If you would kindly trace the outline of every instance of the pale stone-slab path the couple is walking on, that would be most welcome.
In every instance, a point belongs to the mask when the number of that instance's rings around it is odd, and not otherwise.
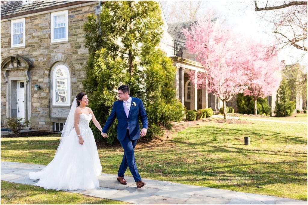
[[[29,172],[37,172],[44,167],[1,161],[1,180],[32,185],[38,180],[31,180]],[[116,175],[102,173],[99,189],[71,192],[134,204],[307,204],[307,201],[301,200],[150,179],[142,179],[147,184],[137,189],[132,177],[126,176],[125,179],[128,184],[122,185],[116,180]]]

